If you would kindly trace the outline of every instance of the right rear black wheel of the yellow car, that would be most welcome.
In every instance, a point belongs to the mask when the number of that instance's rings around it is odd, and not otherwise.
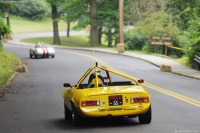
[[[149,107],[149,110],[145,114],[139,115],[138,118],[141,124],[151,123],[151,106]]]

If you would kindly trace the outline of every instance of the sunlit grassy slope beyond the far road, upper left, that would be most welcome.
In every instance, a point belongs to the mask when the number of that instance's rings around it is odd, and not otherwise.
[[[46,18],[42,21],[28,20],[21,17],[11,16],[10,25],[12,33],[28,33],[28,32],[46,32],[53,30],[53,24],[51,18]],[[74,26],[71,23],[71,28]],[[67,24],[64,21],[59,21],[59,30],[63,31],[67,29]]]

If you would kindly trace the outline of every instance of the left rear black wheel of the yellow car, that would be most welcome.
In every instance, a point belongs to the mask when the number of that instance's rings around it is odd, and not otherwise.
[[[74,105],[72,105],[72,124],[78,126],[81,123],[81,116],[78,114]]]

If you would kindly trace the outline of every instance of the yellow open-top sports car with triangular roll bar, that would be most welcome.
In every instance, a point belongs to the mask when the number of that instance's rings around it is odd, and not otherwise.
[[[62,92],[65,119],[73,125],[84,117],[137,117],[141,124],[151,122],[148,91],[136,80],[103,66],[93,66],[74,86],[64,83]]]

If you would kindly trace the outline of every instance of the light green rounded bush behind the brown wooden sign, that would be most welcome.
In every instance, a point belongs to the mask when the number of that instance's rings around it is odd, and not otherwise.
[[[164,11],[150,14],[144,21],[139,22],[138,30],[145,31],[149,38],[150,36],[170,36],[172,37],[174,44],[178,41],[177,36],[180,34],[180,30],[173,23],[171,15],[166,14]],[[143,50],[146,52],[154,52],[154,46],[148,46],[148,44],[150,45],[150,41],[145,42]],[[157,49],[158,52],[160,51],[159,53],[163,53],[164,51],[163,46],[159,46]],[[168,51],[168,54],[177,54],[172,51]]]

